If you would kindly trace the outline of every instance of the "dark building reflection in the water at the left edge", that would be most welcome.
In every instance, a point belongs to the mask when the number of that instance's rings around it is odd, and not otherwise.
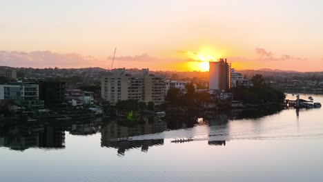
[[[63,128],[50,125],[20,125],[2,128],[0,146],[12,150],[65,148]]]

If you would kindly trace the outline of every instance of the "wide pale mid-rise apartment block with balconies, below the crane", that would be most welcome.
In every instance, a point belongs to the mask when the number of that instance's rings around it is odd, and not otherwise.
[[[101,97],[111,103],[134,99],[158,105],[164,103],[165,79],[148,69],[139,74],[129,74],[125,68],[115,69],[101,78]]]

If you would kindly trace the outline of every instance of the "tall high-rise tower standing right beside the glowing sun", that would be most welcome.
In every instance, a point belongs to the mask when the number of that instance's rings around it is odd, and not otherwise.
[[[231,63],[226,59],[209,63],[209,89],[228,91],[231,88]]]

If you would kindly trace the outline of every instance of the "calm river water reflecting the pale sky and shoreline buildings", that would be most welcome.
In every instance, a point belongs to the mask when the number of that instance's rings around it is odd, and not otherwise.
[[[322,181],[322,116],[323,109],[260,119],[218,114],[193,128],[177,123],[178,130],[159,119],[132,128],[7,125],[0,131],[0,181]],[[110,141],[123,136],[134,141]],[[170,142],[188,137],[194,141]]]

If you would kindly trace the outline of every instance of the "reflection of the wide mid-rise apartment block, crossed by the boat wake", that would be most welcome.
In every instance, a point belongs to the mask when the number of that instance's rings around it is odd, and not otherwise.
[[[124,155],[127,150],[141,148],[142,152],[148,152],[148,148],[155,145],[164,145],[164,139],[148,139],[135,141],[111,141],[128,136],[139,136],[144,134],[155,134],[164,132],[167,129],[165,121],[159,117],[153,119],[144,118],[144,124],[134,126],[124,126],[117,124],[116,121],[108,123],[101,129],[101,146],[116,148],[119,155]]]

